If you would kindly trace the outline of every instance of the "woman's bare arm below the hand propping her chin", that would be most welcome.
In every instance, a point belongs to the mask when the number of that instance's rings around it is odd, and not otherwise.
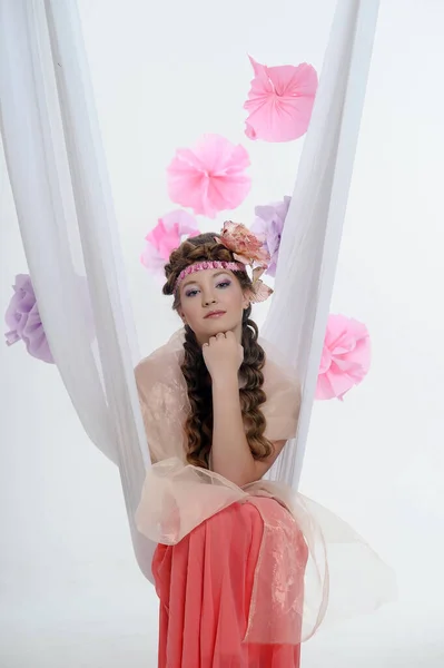
[[[238,487],[260,480],[286,441],[273,443],[273,453],[266,460],[253,458],[245,435],[237,371],[229,365],[213,379],[213,471]]]

